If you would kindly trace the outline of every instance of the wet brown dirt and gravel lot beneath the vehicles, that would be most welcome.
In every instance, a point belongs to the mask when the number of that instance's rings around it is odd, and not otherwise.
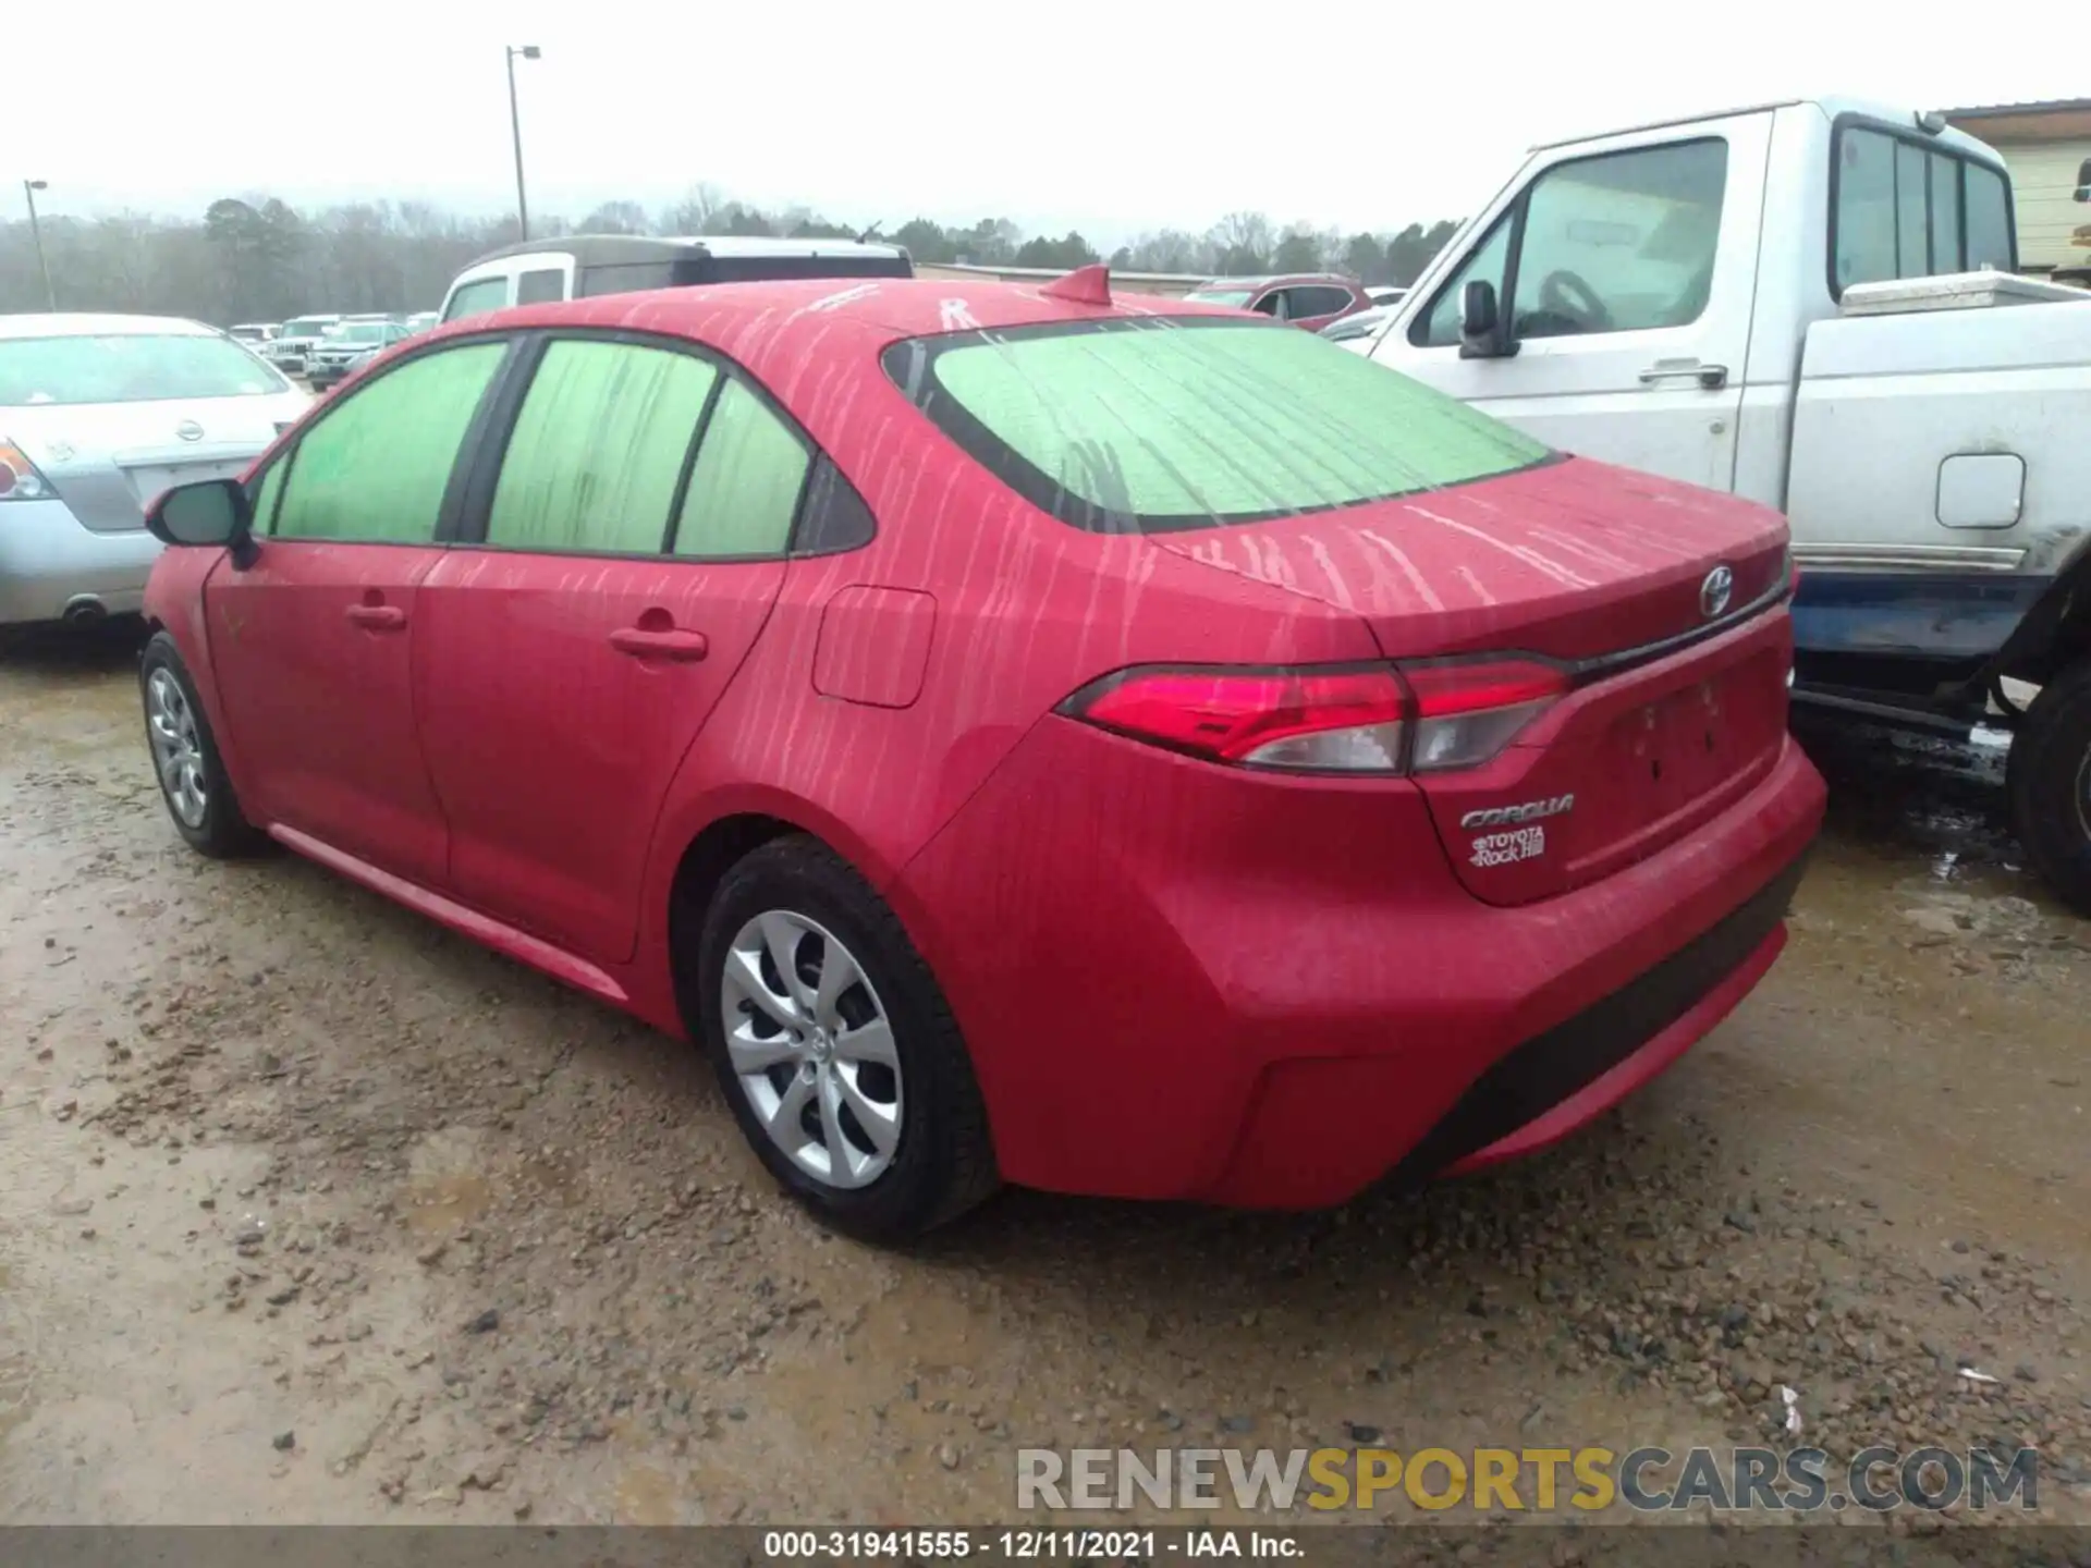
[[[1014,1516],[1031,1445],[2037,1443],[2091,1482],[2091,926],[1980,761],[1815,742],[1769,983],[1522,1169],[1313,1217],[782,1202],[690,1052],[167,826],[132,652],[0,663],[0,1518]],[[1959,1376],[1972,1365],[1997,1378]]]

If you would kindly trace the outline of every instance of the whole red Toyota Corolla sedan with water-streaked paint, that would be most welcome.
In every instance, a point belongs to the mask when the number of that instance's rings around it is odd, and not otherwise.
[[[1549,1144],[1823,807],[1777,514],[1096,270],[458,322],[151,518],[180,834],[698,1041],[868,1236]]]

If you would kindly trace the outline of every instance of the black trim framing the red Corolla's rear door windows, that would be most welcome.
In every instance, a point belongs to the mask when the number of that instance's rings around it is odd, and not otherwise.
[[[514,335],[521,349],[512,355],[512,374],[502,385],[502,395],[496,399],[498,406],[489,410],[489,431],[479,447],[473,472],[466,479],[464,493],[458,506],[458,529],[450,539],[452,544],[466,546],[470,550],[493,550],[500,554],[519,556],[562,556],[575,560],[652,560],[686,567],[705,564],[736,564],[736,562],[759,562],[759,560],[797,560],[811,556],[834,556],[849,554],[851,550],[864,550],[872,539],[878,537],[878,514],[866,504],[866,512],[872,516],[870,537],[830,550],[801,550],[799,535],[805,529],[807,495],[813,487],[813,472],[820,462],[828,458],[826,447],[813,439],[813,433],[805,429],[790,410],[776,399],[776,395],[755,376],[746,366],[734,360],[730,353],[721,353],[709,343],[698,343],[688,337],[673,337],[665,332],[646,332],[629,326],[539,326],[527,328]],[[667,521],[663,523],[661,546],[657,550],[542,550],[537,546],[521,544],[493,544],[487,539],[487,518],[493,512],[493,491],[500,485],[502,462],[508,458],[508,443],[514,439],[516,420],[523,414],[523,399],[529,395],[531,383],[537,378],[537,366],[544,362],[546,349],[552,343],[623,343],[636,349],[661,349],[667,353],[684,353],[692,360],[705,360],[717,370],[717,378],[711,383],[711,391],[705,395],[705,408],[698,414],[696,429],[690,433],[690,445],[682,454],[682,470],[677,472],[675,493],[669,504]],[[769,410],[772,416],[792,435],[792,439],[805,447],[807,462],[805,475],[799,479],[799,493],[792,500],[790,529],[784,535],[784,548],[776,552],[761,554],[734,554],[734,556],[711,556],[711,554],[675,554],[671,550],[675,529],[682,521],[682,504],[690,493],[690,477],[696,472],[696,458],[703,447],[705,435],[711,429],[711,414],[719,406],[719,395],[728,381],[738,381],[755,399]],[[836,479],[851,485],[849,475],[843,472],[841,464],[834,464]],[[855,489],[855,485],[851,485]],[[864,500],[864,493],[857,491]],[[445,498],[447,502],[447,498]]]

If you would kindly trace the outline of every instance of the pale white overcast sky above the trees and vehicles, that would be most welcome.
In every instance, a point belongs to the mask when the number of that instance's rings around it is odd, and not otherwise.
[[[17,4],[0,211],[199,213],[514,201],[504,44],[533,211],[648,207],[705,180],[887,228],[1008,215],[1108,245],[1250,207],[1280,224],[1462,217],[1535,140],[1792,94],[1907,107],[2085,90],[2066,10],[1955,27],[1909,10],[1671,0],[395,0],[115,13]],[[2051,46],[2041,44],[2049,33]],[[2076,40],[2076,46],[2070,40]]]

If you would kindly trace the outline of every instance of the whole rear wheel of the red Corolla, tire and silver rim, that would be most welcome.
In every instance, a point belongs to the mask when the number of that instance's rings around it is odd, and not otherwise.
[[[696,951],[705,1050],[757,1156],[836,1229],[901,1242],[997,1183],[987,1110],[935,976],[826,845],[726,874]]]

